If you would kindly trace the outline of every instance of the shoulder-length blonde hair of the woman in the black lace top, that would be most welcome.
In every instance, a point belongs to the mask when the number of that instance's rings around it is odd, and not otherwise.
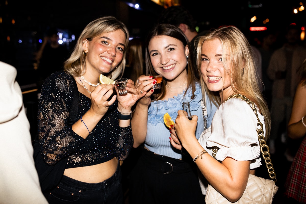
[[[91,41],[102,33],[114,32],[119,29],[125,33],[125,47],[127,47],[129,43],[129,31],[121,21],[112,16],[100,17],[91,21],[81,32],[71,56],[65,61],[64,70],[72,76],[83,75],[86,71],[85,57],[83,55],[83,40],[86,38],[88,41]],[[122,61],[116,69],[106,75],[107,77],[115,80],[122,76],[125,69],[125,52],[126,49],[123,50]]]

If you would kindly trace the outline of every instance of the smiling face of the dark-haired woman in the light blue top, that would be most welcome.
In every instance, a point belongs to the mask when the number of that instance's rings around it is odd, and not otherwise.
[[[174,80],[181,73],[187,76],[188,46],[173,37],[157,35],[150,40],[148,45],[152,66],[158,74],[162,74],[167,80]]]

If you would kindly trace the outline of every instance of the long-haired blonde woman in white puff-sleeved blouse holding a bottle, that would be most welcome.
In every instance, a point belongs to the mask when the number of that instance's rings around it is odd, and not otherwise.
[[[186,113],[179,110],[171,130],[171,144],[176,148],[184,146],[211,186],[236,202],[249,174],[255,174],[261,165],[260,147],[252,108],[240,98],[227,99],[241,94],[256,104],[266,139],[270,131],[269,110],[259,90],[251,46],[238,28],[224,26],[199,37],[197,52],[202,87],[220,106],[211,127],[199,140],[194,132],[201,118],[193,116],[189,121]],[[218,147],[216,159],[212,157],[214,146]]]

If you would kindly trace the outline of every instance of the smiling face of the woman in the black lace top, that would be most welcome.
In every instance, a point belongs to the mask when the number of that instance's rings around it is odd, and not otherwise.
[[[122,30],[102,33],[91,41],[84,39],[83,50],[87,52],[86,69],[105,74],[111,72],[123,59],[126,36]]]

